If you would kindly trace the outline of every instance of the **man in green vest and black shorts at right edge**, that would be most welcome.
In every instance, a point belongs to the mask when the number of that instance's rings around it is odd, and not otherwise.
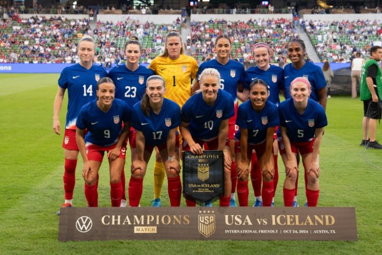
[[[362,65],[360,95],[364,103],[362,128],[364,137],[360,145],[366,148],[382,149],[375,140],[377,119],[381,119],[382,72],[378,61],[382,60],[382,47],[370,48],[370,59]],[[367,138],[370,134],[369,139]]]

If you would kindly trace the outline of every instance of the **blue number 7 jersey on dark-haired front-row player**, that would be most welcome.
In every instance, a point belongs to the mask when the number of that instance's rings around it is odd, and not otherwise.
[[[258,144],[266,140],[268,127],[279,125],[279,109],[270,101],[265,102],[263,110],[256,112],[251,101],[245,101],[237,110],[236,125],[248,129],[248,143]],[[240,140],[240,135],[236,136]]]

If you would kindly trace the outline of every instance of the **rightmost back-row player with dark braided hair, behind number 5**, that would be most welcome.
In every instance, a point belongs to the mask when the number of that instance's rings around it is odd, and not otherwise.
[[[319,103],[324,110],[326,110],[326,81],[323,72],[319,66],[305,61],[304,55],[306,53],[305,43],[300,39],[292,39],[288,43],[288,58],[292,63],[287,64],[284,67],[285,76],[285,91],[290,90],[291,82],[297,77],[304,77],[308,79],[311,85],[310,98]],[[285,93],[285,98],[290,98],[289,93]],[[297,152],[297,162],[299,162],[299,156]],[[304,176],[305,186],[307,184],[307,176]],[[296,181],[296,194],[293,201],[293,206],[298,207],[297,203],[297,183]]]

